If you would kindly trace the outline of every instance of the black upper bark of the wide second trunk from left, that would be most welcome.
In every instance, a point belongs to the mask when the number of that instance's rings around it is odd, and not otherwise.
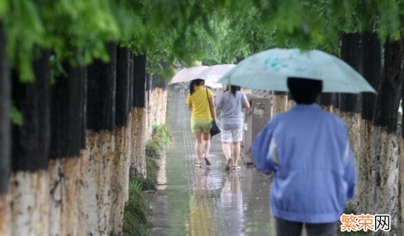
[[[50,147],[50,53],[42,52],[34,62],[36,81],[21,83],[14,74],[12,97],[23,117],[22,126],[12,128],[12,167],[45,170]]]

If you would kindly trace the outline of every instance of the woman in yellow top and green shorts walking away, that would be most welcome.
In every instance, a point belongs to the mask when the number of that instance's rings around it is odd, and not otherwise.
[[[192,80],[190,93],[187,97],[188,108],[192,112],[191,130],[195,136],[195,154],[198,158],[196,168],[202,167],[202,148],[206,165],[210,166],[210,128],[212,127],[212,119],[216,120],[213,92],[203,87],[204,84],[203,79]]]

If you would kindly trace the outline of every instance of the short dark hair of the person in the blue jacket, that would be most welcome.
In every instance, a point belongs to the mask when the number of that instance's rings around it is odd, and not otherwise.
[[[323,90],[323,81],[288,77],[287,88],[289,88],[290,95],[296,104],[314,104]]]

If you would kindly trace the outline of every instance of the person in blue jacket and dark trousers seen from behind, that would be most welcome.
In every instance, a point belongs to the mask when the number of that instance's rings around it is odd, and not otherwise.
[[[252,144],[256,168],[274,172],[276,235],[336,235],[356,173],[344,122],[315,104],[323,82],[288,78],[296,105],[273,117]]]

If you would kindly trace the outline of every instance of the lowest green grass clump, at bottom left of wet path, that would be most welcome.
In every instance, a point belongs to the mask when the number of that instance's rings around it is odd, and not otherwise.
[[[123,235],[148,235],[152,224],[147,217],[147,204],[141,193],[142,182],[130,180],[129,199],[123,213]]]

